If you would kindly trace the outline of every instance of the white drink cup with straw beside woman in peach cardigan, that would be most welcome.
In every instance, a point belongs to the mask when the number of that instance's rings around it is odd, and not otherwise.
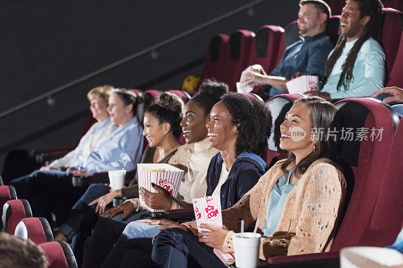
[[[235,251],[235,264],[238,268],[257,267],[261,234],[236,233],[232,235]]]

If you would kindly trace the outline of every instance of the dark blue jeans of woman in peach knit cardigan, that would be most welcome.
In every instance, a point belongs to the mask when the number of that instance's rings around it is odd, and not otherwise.
[[[158,267],[227,267],[212,247],[179,228],[165,229],[157,235],[151,258]]]

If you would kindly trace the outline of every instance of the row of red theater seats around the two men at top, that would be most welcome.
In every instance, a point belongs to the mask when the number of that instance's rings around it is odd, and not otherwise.
[[[403,67],[399,63],[403,60],[403,14],[391,8],[384,8],[383,11],[383,30],[379,39],[386,53],[389,74],[386,84],[401,87],[403,78],[399,74]],[[339,37],[339,23],[340,16],[332,16],[326,29],[334,44]],[[249,30],[236,30],[231,36],[217,34],[210,40],[200,81],[214,77],[228,83],[230,90],[236,91],[235,83],[239,81],[242,70],[247,66],[260,64],[270,73],[280,62],[285,48],[297,40],[296,21],[285,29],[264,25],[256,34]],[[259,87],[255,87],[252,93],[262,96]]]

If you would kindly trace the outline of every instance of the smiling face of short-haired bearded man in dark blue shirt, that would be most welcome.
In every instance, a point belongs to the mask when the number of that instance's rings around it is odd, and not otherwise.
[[[320,32],[319,29],[321,24],[326,21],[326,17],[326,15],[323,17],[323,14],[319,14],[313,4],[303,5],[298,12],[299,34],[301,36],[315,36]]]

